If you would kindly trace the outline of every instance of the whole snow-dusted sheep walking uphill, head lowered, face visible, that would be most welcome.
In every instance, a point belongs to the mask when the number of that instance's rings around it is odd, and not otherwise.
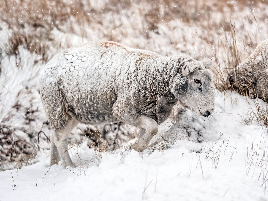
[[[40,74],[40,95],[51,128],[51,165],[74,166],[68,133],[77,125],[127,122],[139,128],[131,149],[143,151],[178,100],[198,115],[214,110],[214,58],[161,56],[116,42],[89,42],[54,56]]]

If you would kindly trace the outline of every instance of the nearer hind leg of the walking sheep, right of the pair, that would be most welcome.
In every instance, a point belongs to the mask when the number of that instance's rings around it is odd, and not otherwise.
[[[68,135],[70,131],[72,131],[72,129],[76,125],[77,125],[77,122],[71,120],[67,123],[64,129],[55,131],[54,133],[54,142],[58,149],[59,155],[61,156],[61,160],[63,161],[61,165],[63,165],[64,167],[67,167],[67,166],[75,167],[75,165],[73,164],[69,156],[69,153],[68,153],[69,147],[67,143],[68,143]]]

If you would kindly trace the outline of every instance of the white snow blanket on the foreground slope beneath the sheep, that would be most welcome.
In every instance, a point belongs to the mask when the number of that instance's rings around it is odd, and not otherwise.
[[[267,128],[243,120],[254,100],[216,94],[210,118],[182,115],[201,143],[181,139],[165,151],[121,148],[96,158],[84,142],[69,150],[83,165],[69,169],[50,167],[49,151],[39,152],[39,162],[0,172],[0,200],[268,200]]]

